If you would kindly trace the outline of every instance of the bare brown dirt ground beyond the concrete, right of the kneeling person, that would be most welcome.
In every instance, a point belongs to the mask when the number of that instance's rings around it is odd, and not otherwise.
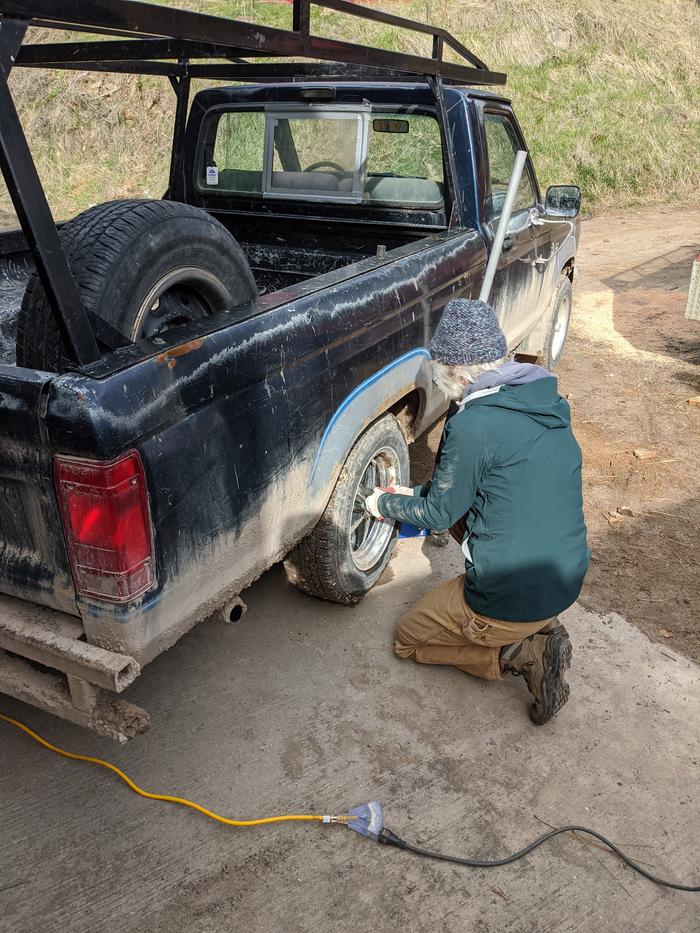
[[[581,602],[700,660],[700,322],[684,318],[696,210],[583,223],[559,369],[583,449],[593,552]],[[441,425],[414,445],[427,478]]]

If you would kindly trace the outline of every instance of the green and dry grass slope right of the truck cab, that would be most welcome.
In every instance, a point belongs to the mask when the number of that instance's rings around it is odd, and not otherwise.
[[[394,4],[444,25],[496,69],[543,187],[586,205],[694,199],[700,186],[700,9],[694,0],[423,0]],[[340,17],[324,21],[344,31]],[[396,43],[366,26],[363,39]],[[377,38],[379,42],[377,42]],[[407,47],[425,53],[418,38]]]

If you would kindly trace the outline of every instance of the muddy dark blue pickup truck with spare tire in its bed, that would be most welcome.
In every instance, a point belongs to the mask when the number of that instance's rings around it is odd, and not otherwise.
[[[409,482],[446,409],[426,347],[527,148],[458,79],[219,86],[181,120],[162,200],[59,225],[92,359],[31,217],[0,237],[0,692],[120,739],[147,717],[115,695],[274,563],[341,603],[379,579],[398,529],[364,494]],[[509,348],[549,367],[578,200],[528,158],[494,283]]]

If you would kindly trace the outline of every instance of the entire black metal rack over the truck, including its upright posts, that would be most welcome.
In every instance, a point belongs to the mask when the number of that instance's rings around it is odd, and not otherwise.
[[[421,57],[312,35],[312,4],[429,36],[432,53]],[[29,26],[86,33],[88,37],[84,42],[25,45]],[[109,38],[95,40],[95,34]],[[445,61],[446,48],[461,59],[459,64]],[[101,346],[114,348],[123,338],[83,304],[12,98],[8,77],[15,66],[169,78],[177,95],[168,189],[174,200],[183,190],[183,140],[193,78],[391,82],[420,77],[433,91],[440,112],[447,192],[453,192],[453,154],[448,143],[443,82],[506,82],[504,74],[490,71],[444,29],[347,0],[293,0],[291,30],[140,0],[0,0],[0,169],[56,323],[78,365],[99,359]]]

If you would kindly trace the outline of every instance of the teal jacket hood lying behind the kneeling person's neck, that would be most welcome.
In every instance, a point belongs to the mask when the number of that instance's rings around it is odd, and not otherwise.
[[[508,364],[510,365],[510,364]],[[530,364],[517,364],[529,366]],[[505,369],[506,367],[501,367]],[[480,377],[477,382],[469,386],[472,391],[469,392],[460,410],[471,407],[472,405],[489,405],[496,408],[509,408],[512,411],[519,411],[545,428],[565,428],[571,424],[571,411],[569,403],[563,399],[557,392],[557,380],[546,369],[541,366],[532,366],[531,369],[539,370],[532,381],[520,379],[515,383],[500,382],[497,385],[479,387]],[[484,373],[493,380],[493,376],[498,370],[492,373]],[[523,374],[521,373],[521,376]]]

